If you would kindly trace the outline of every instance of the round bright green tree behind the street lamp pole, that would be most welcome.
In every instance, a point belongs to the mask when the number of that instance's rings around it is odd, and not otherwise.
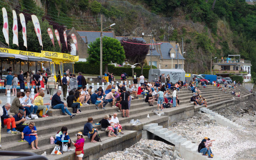
[[[90,63],[100,63],[100,38],[89,44],[88,61]],[[125,60],[124,48],[119,40],[106,37],[102,38],[102,63],[105,65],[105,71],[108,72],[108,64],[121,64]]]

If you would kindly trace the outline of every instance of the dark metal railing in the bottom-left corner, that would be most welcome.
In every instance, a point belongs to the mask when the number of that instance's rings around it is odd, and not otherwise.
[[[20,158],[14,158],[12,160],[48,160],[48,158],[37,155],[32,152],[21,152],[21,151],[0,151],[0,156],[17,156]]]

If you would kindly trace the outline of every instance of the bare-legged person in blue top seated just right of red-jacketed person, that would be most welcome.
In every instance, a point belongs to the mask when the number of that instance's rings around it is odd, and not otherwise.
[[[91,142],[97,142],[94,138],[97,135],[98,129],[92,126],[93,118],[89,117],[87,123],[84,125],[84,136],[91,138]]]

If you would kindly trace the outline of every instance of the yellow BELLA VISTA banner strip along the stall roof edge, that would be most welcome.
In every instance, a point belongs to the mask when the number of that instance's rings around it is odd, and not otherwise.
[[[50,51],[42,51],[41,53],[38,52],[29,52],[24,50],[13,50],[10,48],[0,48],[0,52],[3,53],[10,53],[10,54],[20,54],[24,56],[36,56],[36,57],[45,57],[50,58],[53,60],[63,61],[63,62],[77,62],[79,56],[72,56],[66,53],[60,52],[50,52]]]

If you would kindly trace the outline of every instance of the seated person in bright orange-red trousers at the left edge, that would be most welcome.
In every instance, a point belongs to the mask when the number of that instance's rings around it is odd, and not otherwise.
[[[12,115],[8,115],[8,110],[10,108],[11,108],[10,103],[4,104],[4,106],[2,106],[3,115],[1,116],[1,126],[2,128],[4,128],[4,125],[7,126],[8,134],[12,134],[12,131],[17,132],[15,129],[16,128],[15,119],[12,117]],[[11,124],[12,124],[12,131],[11,131]]]

